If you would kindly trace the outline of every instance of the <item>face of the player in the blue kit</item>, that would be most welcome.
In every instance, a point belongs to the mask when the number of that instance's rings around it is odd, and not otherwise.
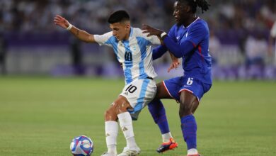
[[[176,23],[183,24],[188,16],[188,7],[187,5],[176,1],[173,6],[173,16],[176,20]]]

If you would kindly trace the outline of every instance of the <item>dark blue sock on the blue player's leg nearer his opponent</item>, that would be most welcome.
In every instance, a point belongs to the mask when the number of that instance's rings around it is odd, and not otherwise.
[[[151,101],[148,104],[149,112],[151,113],[154,122],[159,126],[161,134],[170,132],[165,108],[160,100]]]

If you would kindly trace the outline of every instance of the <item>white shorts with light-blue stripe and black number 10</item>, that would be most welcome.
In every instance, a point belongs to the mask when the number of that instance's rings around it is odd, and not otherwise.
[[[129,109],[132,120],[137,120],[142,108],[149,104],[156,95],[156,82],[152,79],[137,79],[125,85],[120,96],[124,96],[132,109]]]

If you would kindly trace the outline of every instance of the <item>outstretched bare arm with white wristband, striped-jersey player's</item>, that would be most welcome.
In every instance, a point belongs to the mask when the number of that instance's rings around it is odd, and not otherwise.
[[[55,16],[54,24],[69,30],[73,35],[76,36],[76,38],[79,38],[79,40],[83,40],[86,43],[96,42],[94,35],[87,33],[85,30],[80,30],[79,28],[76,28],[75,26],[71,25],[69,21],[67,21],[67,19],[65,19],[62,16],[59,16],[59,15]]]

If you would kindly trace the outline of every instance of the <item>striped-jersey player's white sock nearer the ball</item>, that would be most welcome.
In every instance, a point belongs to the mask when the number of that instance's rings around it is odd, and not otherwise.
[[[105,121],[105,140],[108,153],[117,155],[118,123],[116,121]]]

